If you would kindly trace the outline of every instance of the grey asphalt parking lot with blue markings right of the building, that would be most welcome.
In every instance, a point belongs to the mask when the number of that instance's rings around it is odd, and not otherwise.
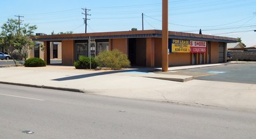
[[[226,64],[206,68],[182,69],[164,74],[189,75],[196,80],[256,84],[256,63]]]

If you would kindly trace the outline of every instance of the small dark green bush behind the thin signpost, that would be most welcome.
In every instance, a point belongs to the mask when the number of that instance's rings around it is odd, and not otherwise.
[[[76,69],[90,69],[90,58],[85,56],[79,56],[79,61],[75,61],[74,66]],[[98,64],[94,61],[94,57],[91,57],[91,68],[95,69]]]

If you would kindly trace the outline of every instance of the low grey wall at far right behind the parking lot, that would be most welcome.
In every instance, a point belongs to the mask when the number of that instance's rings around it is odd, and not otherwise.
[[[231,54],[231,61],[256,61],[256,51],[227,51]]]

